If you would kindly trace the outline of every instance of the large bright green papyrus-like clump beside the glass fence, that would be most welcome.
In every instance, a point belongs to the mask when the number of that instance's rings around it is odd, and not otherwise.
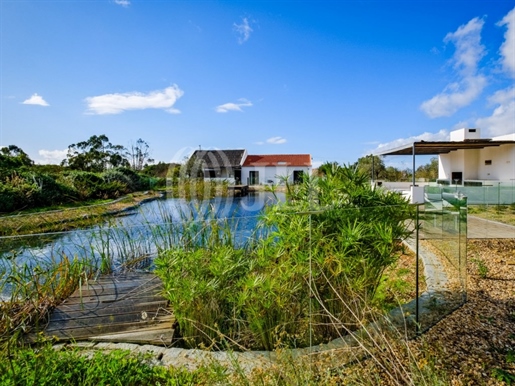
[[[186,222],[186,242],[156,259],[188,346],[303,347],[365,318],[412,209],[347,167],[287,184],[287,197],[265,209],[263,237],[243,247],[207,218]]]

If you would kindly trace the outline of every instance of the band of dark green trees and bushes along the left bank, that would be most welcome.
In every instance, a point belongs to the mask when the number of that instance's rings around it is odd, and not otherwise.
[[[71,144],[60,165],[37,165],[16,145],[0,148],[0,213],[164,186],[170,165],[153,161],[144,140],[125,148],[106,135]]]

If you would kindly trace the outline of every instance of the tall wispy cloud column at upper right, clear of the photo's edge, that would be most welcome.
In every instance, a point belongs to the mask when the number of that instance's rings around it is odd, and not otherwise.
[[[485,56],[485,47],[481,44],[483,25],[484,20],[476,17],[445,36],[444,42],[456,47],[450,63],[458,81],[421,104],[421,110],[429,117],[454,114],[474,101],[485,88],[486,77],[478,73],[478,63]]]

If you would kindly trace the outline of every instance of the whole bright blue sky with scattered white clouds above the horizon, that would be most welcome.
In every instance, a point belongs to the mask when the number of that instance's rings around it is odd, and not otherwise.
[[[201,146],[316,165],[515,133],[512,0],[0,6],[0,146],[39,163],[95,134],[165,162]]]

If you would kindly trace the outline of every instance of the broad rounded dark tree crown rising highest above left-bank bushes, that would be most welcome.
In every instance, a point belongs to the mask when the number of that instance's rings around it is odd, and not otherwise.
[[[68,154],[61,165],[68,166],[70,169],[89,172],[129,167],[125,152],[126,149],[123,146],[113,145],[104,134],[93,135],[87,141],[68,146]]]

